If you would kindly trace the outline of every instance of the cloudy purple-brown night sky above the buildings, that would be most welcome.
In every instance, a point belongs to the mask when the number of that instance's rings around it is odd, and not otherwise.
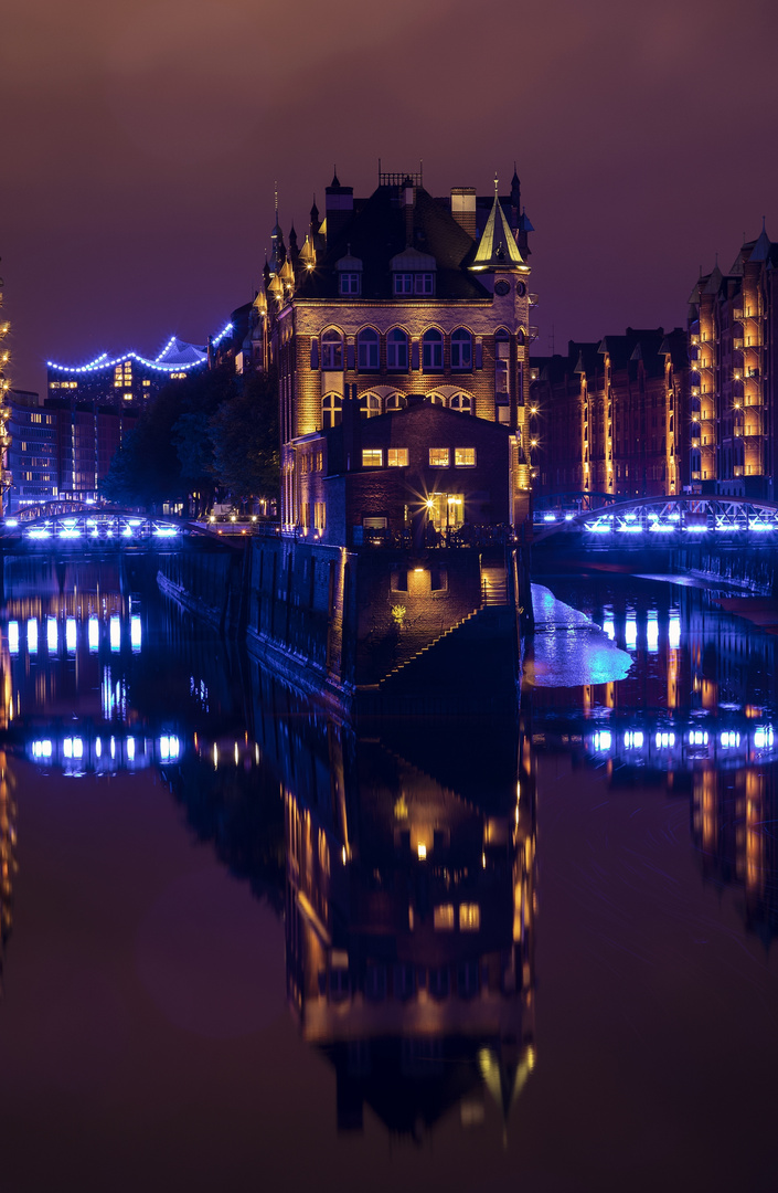
[[[12,382],[204,342],[332,166],[435,194],[518,166],[537,352],[683,323],[716,251],[778,239],[774,0],[5,0]]]

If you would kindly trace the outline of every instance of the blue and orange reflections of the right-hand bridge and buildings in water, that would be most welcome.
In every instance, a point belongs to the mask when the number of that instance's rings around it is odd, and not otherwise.
[[[575,599],[565,582],[555,589]],[[661,781],[687,799],[703,878],[742,894],[747,929],[768,945],[778,933],[778,643],[722,613],[716,594],[656,585],[653,607],[640,608],[634,595],[604,582],[581,601],[633,668],[616,685],[525,692],[535,749],[604,767],[611,789]]]

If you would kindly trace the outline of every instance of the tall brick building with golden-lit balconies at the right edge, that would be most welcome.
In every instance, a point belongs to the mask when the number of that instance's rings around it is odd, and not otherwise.
[[[690,296],[691,476],[708,493],[776,500],[778,245],[763,228]]]

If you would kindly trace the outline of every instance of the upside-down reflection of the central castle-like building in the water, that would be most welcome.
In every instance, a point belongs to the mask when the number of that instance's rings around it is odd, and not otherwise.
[[[330,724],[318,746],[312,787],[284,785],[287,994],[338,1126],[366,1102],[400,1135],[455,1105],[475,1125],[485,1089],[506,1125],[535,1063],[529,749],[486,808],[380,740]]]

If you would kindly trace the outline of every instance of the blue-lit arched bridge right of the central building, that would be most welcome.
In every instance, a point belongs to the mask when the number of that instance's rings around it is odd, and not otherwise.
[[[641,497],[583,513],[539,511],[535,543],[577,536],[585,546],[687,546],[692,542],[776,546],[778,503],[742,497]]]

